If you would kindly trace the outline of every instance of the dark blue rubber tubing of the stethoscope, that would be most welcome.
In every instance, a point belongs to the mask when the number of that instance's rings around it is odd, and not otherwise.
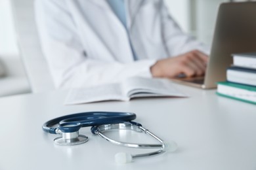
[[[130,122],[135,120],[133,112],[80,112],[60,116],[43,124],[43,131],[56,134],[60,129],[63,133],[78,131],[81,127],[100,126],[103,124],[118,124],[119,122]],[[58,124],[58,127],[53,127]]]

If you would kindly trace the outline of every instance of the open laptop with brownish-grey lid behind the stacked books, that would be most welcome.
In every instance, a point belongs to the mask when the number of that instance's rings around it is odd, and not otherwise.
[[[173,80],[197,88],[216,88],[216,82],[226,80],[231,54],[244,52],[256,52],[256,2],[222,3],[205,76]]]

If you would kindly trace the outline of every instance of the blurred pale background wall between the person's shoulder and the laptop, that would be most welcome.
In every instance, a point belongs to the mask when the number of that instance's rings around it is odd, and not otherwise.
[[[228,0],[165,0],[170,13],[186,33],[211,45],[218,7]]]

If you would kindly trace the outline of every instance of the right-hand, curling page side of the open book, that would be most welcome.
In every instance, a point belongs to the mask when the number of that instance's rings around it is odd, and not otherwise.
[[[127,78],[122,83],[123,92],[129,97],[173,96],[187,97],[179,92],[170,80],[163,78]]]

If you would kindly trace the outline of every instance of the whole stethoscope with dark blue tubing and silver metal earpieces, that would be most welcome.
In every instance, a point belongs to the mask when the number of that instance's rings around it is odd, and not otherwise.
[[[91,126],[91,132],[98,135],[112,144],[119,146],[126,146],[129,148],[159,148],[155,152],[148,152],[145,154],[128,154],[117,153],[115,159],[117,163],[129,163],[137,158],[144,158],[147,156],[155,156],[163,154],[164,152],[175,151],[177,144],[175,142],[165,143],[154,133],[142,127],[135,120],[136,114],[131,112],[81,112],[77,114],[70,114],[49,120],[43,124],[43,131],[52,134],[60,134],[61,137],[54,139],[54,143],[62,146],[72,146],[77,144],[86,143],[88,137],[79,135],[81,127]],[[58,125],[56,127],[56,125]],[[123,143],[110,139],[104,135],[104,132],[112,129],[130,129],[137,132],[144,132],[160,142],[160,144],[136,144],[136,143]]]

